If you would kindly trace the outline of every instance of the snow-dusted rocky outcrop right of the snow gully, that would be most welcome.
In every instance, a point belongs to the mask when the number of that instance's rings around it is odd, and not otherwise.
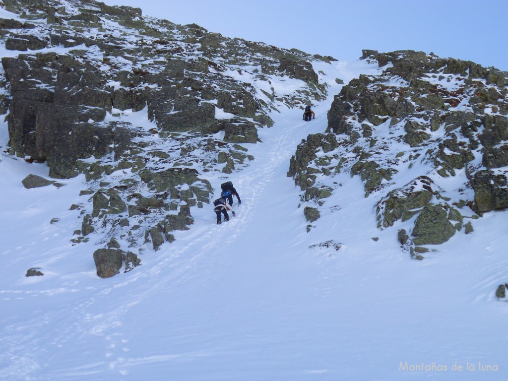
[[[477,213],[508,206],[507,74],[407,50],[365,50],[362,58],[377,63],[378,72],[342,87],[327,134],[313,138],[338,143],[325,151],[303,142],[288,176],[301,200],[313,203],[316,189],[326,187],[329,195],[340,186],[333,180],[338,173],[358,176],[364,196],[376,199],[378,228],[394,227],[402,248],[423,259],[429,250],[423,246],[470,234]],[[436,185],[448,177],[461,185],[454,191]]]

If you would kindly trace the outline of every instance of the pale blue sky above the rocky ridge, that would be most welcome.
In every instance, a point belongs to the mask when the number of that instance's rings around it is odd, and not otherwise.
[[[508,0],[103,0],[177,24],[355,60],[411,49],[508,71]]]

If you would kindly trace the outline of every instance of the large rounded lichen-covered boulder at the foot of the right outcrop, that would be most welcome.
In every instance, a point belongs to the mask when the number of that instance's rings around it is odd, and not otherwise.
[[[439,245],[453,237],[455,231],[446,208],[441,204],[428,204],[416,219],[412,242],[415,245]]]

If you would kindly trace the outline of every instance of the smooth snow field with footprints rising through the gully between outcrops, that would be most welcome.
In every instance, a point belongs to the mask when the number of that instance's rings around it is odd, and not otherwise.
[[[48,168],[9,156],[3,123],[0,379],[507,379],[508,303],[494,292],[508,281],[508,214],[486,213],[472,234],[415,261],[393,230],[376,228],[376,200],[364,198],[359,176],[339,174],[326,201],[337,207],[306,232],[290,158],[325,131],[340,90],[333,79],[377,69],[319,65],[333,85],[314,120],[280,108],[259,130],[263,143],[245,145],[255,156],[248,167],[202,174],[217,197],[233,181],[237,217],[217,226],[211,205],[192,208],[189,231],[158,251],[146,245],[142,266],[109,279],[96,274],[97,237],[70,241],[84,176],[25,189],[26,175],[47,177]],[[330,240],[340,249],[313,246]],[[44,276],[25,277],[31,267]]]

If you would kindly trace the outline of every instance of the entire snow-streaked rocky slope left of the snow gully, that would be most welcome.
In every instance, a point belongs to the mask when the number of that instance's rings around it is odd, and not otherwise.
[[[94,0],[3,6],[30,20],[0,19],[0,43],[10,50],[0,73],[10,153],[46,163],[51,178],[84,175],[87,189],[71,207],[81,219],[71,242],[93,237],[107,247],[100,250],[113,250],[96,253],[100,276],[116,274],[120,261],[135,267],[125,243],[158,250],[189,229],[193,208],[214,192],[205,174],[228,175],[255,160],[247,144],[261,142],[258,129],[273,124],[272,112],[326,96],[312,62],[331,57]],[[288,78],[302,86],[260,91]],[[23,180],[50,183],[61,185]]]

